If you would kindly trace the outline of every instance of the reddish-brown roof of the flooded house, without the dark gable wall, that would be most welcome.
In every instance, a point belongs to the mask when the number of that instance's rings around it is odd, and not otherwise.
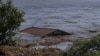
[[[28,34],[32,34],[32,35],[36,35],[36,36],[45,36],[47,34],[51,34],[55,31],[61,31],[61,30],[58,30],[58,29],[49,29],[49,28],[38,28],[38,27],[30,27],[30,28],[27,28],[27,29],[24,29],[24,30],[21,30],[20,32],[23,32],[23,33],[28,33]],[[64,32],[64,31],[61,31],[61,33]],[[66,33],[66,35],[71,35],[70,33],[67,33],[67,32],[64,32]]]

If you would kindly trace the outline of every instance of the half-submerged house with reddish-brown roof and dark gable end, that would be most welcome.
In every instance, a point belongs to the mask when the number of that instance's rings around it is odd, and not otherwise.
[[[64,32],[59,29],[39,28],[39,27],[30,27],[30,28],[21,30],[20,32],[28,33],[28,34],[32,34],[32,35],[40,36],[40,37],[71,35],[71,33]]]

